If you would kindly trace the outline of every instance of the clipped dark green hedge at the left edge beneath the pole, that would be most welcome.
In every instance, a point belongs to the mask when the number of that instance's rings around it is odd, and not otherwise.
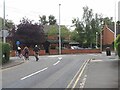
[[[1,51],[2,51],[1,63],[3,64],[3,63],[6,63],[6,62],[9,61],[9,58],[10,58],[10,45],[8,43],[0,43],[0,46],[1,46]]]

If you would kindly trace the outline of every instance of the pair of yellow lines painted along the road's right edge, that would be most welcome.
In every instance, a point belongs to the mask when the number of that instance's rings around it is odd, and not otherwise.
[[[78,72],[75,74],[75,76],[73,77],[73,79],[71,80],[71,82],[68,84],[67,88],[71,88],[71,90],[73,90],[73,89],[76,87],[78,81],[80,80],[80,77],[82,76],[82,74],[83,74],[83,72],[84,72],[87,64],[90,62],[90,60],[91,60],[91,59],[86,60],[86,61],[82,64],[82,66],[80,67],[80,69],[78,70]],[[71,87],[71,86],[72,86],[72,87]],[[67,90],[67,88],[66,88],[66,90]]]

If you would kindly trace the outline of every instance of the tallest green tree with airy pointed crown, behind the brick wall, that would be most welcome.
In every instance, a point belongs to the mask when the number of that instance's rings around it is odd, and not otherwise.
[[[82,46],[93,47],[95,44],[96,32],[100,33],[102,28],[102,16],[93,14],[93,10],[87,6],[83,7],[83,17],[81,21],[79,18],[72,20],[76,27],[75,30],[79,35],[79,41]],[[76,36],[78,37],[78,36]]]

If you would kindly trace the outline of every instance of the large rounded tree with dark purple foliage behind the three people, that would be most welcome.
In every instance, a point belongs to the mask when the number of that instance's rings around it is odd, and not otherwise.
[[[20,41],[22,45],[35,45],[45,42],[45,35],[42,25],[32,24],[31,20],[23,18],[17,26],[17,31],[14,35],[14,41]]]

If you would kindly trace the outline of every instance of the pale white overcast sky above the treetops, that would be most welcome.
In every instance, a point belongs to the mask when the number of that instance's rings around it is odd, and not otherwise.
[[[39,15],[55,16],[60,24],[72,25],[73,18],[82,18],[83,7],[93,9],[93,13],[103,17],[115,17],[115,3],[119,0],[5,0],[5,18],[19,24],[23,17],[38,22]],[[116,4],[117,7],[117,4]],[[0,17],[3,17],[3,0],[0,0]]]

